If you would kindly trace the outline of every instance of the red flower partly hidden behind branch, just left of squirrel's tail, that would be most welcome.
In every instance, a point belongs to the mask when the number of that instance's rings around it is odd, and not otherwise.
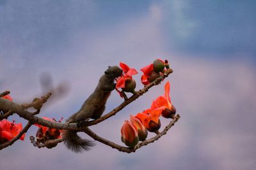
[[[49,120],[49,121],[54,121],[57,122],[54,118],[47,118],[47,117],[42,117],[45,120]],[[61,120],[59,120],[59,122],[61,122]],[[59,129],[53,129],[50,127],[45,127],[43,125],[38,125],[35,124],[38,128],[38,131],[36,132],[36,140],[37,141],[46,141],[48,139],[58,139],[61,138],[61,130]]]

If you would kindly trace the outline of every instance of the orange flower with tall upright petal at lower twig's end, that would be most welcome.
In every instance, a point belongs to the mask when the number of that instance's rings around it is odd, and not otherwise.
[[[169,81],[167,81],[164,85],[164,95],[157,97],[151,104],[152,109],[156,109],[159,107],[164,107],[164,110],[161,113],[163,117],[174,118],[176,109],[171,102]]]

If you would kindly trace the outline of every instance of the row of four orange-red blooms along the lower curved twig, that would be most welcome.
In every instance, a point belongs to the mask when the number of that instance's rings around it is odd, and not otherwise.
[[[161,127],[159,117],[174,118],[175,108],[170,98],[170,82],[164,85],[164,95],[157,97],[151,107],[138,113],[135,117],[131,115],[131,122],[125,120],[121,129],[121,139],[125,145],[134,147],[140,141],[147,138],[147,130],[157,132]]]

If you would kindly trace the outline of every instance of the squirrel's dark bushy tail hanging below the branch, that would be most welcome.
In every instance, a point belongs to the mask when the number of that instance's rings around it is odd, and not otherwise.
[[[72,152],[81,153],[84,150],[90,150],[91,146],[95,146],[93,141],[82,139],[77,135],[77,131],[63,131],[62,138],[64,144]]]

